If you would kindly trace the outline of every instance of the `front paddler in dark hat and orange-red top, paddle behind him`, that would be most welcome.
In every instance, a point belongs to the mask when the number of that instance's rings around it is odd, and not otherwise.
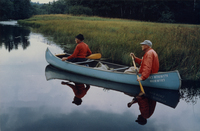
[[[69,57],[63,57],[62,61],[70,61],[70,62],[81,62],[86,61],[86,57],[91,55],[92,52],[89,49],[88,45],[83,42],[84,36],[82,34],[79,34],[75,37],[75,42],[77,44],[74,53],[70,55]]]

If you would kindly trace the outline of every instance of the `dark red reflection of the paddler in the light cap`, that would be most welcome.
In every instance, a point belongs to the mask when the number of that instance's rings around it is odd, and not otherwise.
[[[152,116],[156,107],[156,101],[147,98],[145,95],[139,94],[134,97],[131,102],[128,103],[128,107],[130,108],[132,104],[138,103],[140,115],[135,122],[140,125],[145,125],[147,123],[147,119]]]

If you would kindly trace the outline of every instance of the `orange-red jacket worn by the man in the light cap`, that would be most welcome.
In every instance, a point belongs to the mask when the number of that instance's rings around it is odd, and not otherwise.
[[[135,62],[141,65],[139,73],[142,74],[142,80],[147,79],[151,73],[157,73],[159,70],[158,55],[152,48],[144,54],[143,59],[135,58]]]

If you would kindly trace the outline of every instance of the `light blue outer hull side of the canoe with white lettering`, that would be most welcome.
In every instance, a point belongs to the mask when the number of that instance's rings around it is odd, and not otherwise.
[[[73,73],[108,80],[112,82],[136,86],[139,85],[136,74],[103,71],[91,67],[77,65],[67,61],[62,61],[60,58],[54,56],[48,48],[46,50],[46,61],[57,68]],[[181,78],[177,70],[171,72],[159,72],[156,74],[151,74],[148,79],[146,79],[145,81],[141,81],[141,83],[143,86],[147,87],[178,90],[181,86]]]

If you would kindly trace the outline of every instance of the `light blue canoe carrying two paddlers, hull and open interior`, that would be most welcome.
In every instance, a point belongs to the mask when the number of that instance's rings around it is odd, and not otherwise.
[[[139,87],[136,74],[124,73],[124,71],[129,68],[128,66],[89,59],[85,62],[76,63],[62,61],[61,58],[63,55],[53,55],[48,48],[45,57],[49,64],[65,71],[122,84],[136,85]],[[100,68],[97,67],[99,64],[102,64]],[[159,72],[151,74],[148,79],[141,81],[141,83],[144,87],[178,90],[181,87],[181,77],[177,70]]]

